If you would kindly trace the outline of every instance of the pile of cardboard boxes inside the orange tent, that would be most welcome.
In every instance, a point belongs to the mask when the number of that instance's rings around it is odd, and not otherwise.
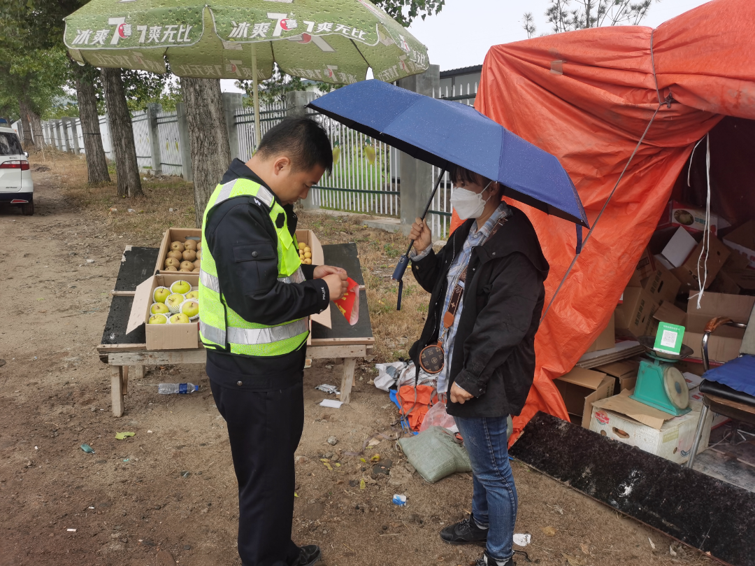
[[[685,462],[700,416],[699,360],[705,326],[714,317],[747,323],[755,306],[755,221],[726,230],[729,224],[711,215],[706,254],[703,253],[704,211],[672,202],[666,216],[624,289],[615,311],[615,332],[617,336],[636,339],[655,335],[660,322],[685,326],[683,343],[692,348],[693,354],[679,367],[685,372],[692,412],[673,417],[631,399],[637,360],[595,367],[594,375],[567,374],[556,380],[556,385],[567,401],[569,413],[577,416],[583,426],[589,422],[590,429],[601,435],[674,462]],[[726,235],[721,235],[721,230]],[[698,302],[701,288],[704,292]],[[737,357],[742,336],[744,329],[732,326],[717,329],[708,340],[710,362],[725,363]],[[608,394],[606,387],[599,386],[604,377],[615,379],[613,391]],[[577,393],[584,393],[581,413]],[[616,394],[611,396],[612,393]],[[704,423],[701,450],[707,446],[711,422],[716,426],[724,420],[720,415],[710,414]]]

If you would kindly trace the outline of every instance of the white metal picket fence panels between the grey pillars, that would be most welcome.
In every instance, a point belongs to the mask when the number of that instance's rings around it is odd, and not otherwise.
[[[476,93],[477,84],[473,86],[467,84],[459,85],[458,88],[442,88],[433,93],[433,96],[473,105]],[[288,109],[282,102],[263,104],[260,108],[262,135],[281,122],[287,111]],[[313,187],[311,191],[313,204],[323,209],[398,217],[401,204],[399,198],[401,153],[333,119],[317,116],[325,131],[328,132],[334,148],[334,165],[331,174],[326,174],[320,184]],[[165,175],[182,175],[183,159],[186,156],[182,153],[177,113],[157,112],[155,122],[159,144],[159,164],[153,163],[155,152],[151,147],[149,112],[137,112],[131,118],[140,168],[159,169]],[[236,110],[233,113],[233,128],[236,128],[239,140],[238,157],[246,161],[257,146],[257,141],[254,139],[253,110],[251,108]],[[84,153],[84,132],[78,118],[71,121],[48,120],[43,122],[43,132],[46,143],[63,151],[76,149],[75,144],[69,147],[69,141],[72,141],[75,135],[78,150]],[[100,133],[105,155],[108,159],[113,159],[107,116],[100,116]],[[433,167],[431,175],[433,186],[439,174],[440,170]],[[448,236],[451,212],[453,212],[450,202],[452,191],[451,180],[446,172],[430,206],[428,216],[433,234],[444,239]]]

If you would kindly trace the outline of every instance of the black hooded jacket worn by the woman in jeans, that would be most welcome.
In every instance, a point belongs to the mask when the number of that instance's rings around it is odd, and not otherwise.
[[[510,208],[506,224],[470,256],[448,391],[456,382],[474,397],[464,404],[449,397],[447,410],[453,416],[518,415],[535,376],[535,332],[549,267],[529,218]],[[416,367],[421,349],[438,340],[448,269],[472,224],[473,219],[461,224],[437,254],[412,262],[414,278],[431,293],[422,336],[409,350]]]

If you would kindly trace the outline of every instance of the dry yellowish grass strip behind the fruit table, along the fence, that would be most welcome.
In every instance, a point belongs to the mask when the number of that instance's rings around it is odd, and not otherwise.
[[[96,187],[87,184],[83,159],[61,152],[55,152],[54,156],[48,153],[46,157],[45,165],[54,167],[60,178],[63,195],[82,212],[104,221],[112,234],[124,237],[131,245],[158,246],[166,228],[194,226],[193,187],[181,178],[143,178],[146,198],[119,198],[115,183]],[[42,165],[41,154],[30,159],[32,167]],[[111,177],[115,181],[112,171]],[[129,209],[134,212],[128,212]],[[406,251],[408,240],[401,234],[365,227],[360,215],[301,211],[297,214],[299,227],[313,230],[323,244],[356,243],[367,289],[376,360],[408,357],[408,348],[420,336],[430,299],[407,271],[402,310],[396,311],[398,284],[390,276],[399,256]]]

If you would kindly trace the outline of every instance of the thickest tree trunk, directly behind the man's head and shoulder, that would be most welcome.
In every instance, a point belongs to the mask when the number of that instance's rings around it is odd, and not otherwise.
[[[181,92],[189,128],[194,214],[201,227],[207,201],[231,162],[226,116],[219,80],[181,77]]]

